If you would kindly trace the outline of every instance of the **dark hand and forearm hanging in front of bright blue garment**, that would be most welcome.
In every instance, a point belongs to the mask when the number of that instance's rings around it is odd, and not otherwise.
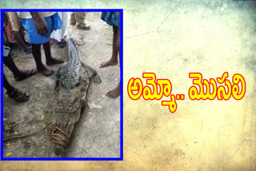
[[[30,12],[32,19],[34,21],[34,26],[38,34],[45,35],[49,32],[48,27],[46,26],[46,21],[42,18],[38,12]]]

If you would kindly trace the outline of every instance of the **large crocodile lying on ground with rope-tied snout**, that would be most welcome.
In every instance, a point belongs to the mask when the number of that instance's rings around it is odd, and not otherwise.
[[[97,72],[82,62],[72,38],[69,40],[68,61],[56,74],[54,118],[49,133],[53,151],[60,156],[70,144],[75,123],[86,106],[86,93],[90,82],[101,83]]]

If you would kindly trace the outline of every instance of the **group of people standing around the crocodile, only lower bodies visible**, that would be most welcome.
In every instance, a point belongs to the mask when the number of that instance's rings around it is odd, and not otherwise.
[[[85,23],[85,12],[74,12],[70,16],[70,25],[76,25],[77,29],[90,30]],[[113,26],[113,49],[109,61],[102,62],[100,67],[118,65],[118,54],[120,52],[120,14],[115,12],[102,12],[102,20]],[[68,13],[66,12],[6,12],[4,14],[4,46],[10,42],[17,42],[25,54],[33,54],[37,70],[18,70],[11,53],[3,58],[4,64],[12,71],[16,81],[22,81],[34,74],[41,73],[46,76],[54,74],[49,66],[61,64],[61,58],[54,58],[50,51],[50,39],[58,43],[60,48],[66,46],[66,35],[68,25]],[[24,35],[27,35],[28,42]],[[46,65],[42,63],[41,46],[46,56]],[[3,74],[3,83],[6,94],[16,101],[27,101],[30,98],[28,93],[23,93],[7,81]],[[106,93],[108,97],[120,95],[119,85]]]

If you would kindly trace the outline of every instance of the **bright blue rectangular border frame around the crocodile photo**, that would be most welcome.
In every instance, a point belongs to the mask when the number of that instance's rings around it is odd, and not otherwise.
[[[123,161],[123,10],[122,9],[1,9],[1,38],[3,38],[3,12],[31,12],[31,11],[53,11],[53,12],[119,12],[121,14],[120,32],[120,157],[4,157],[3,155],[3,41],[1,41],[1,161]]]

